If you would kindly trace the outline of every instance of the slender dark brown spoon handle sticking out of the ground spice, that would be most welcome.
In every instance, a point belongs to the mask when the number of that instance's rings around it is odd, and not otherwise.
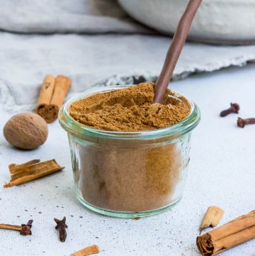
[[[181,16],[174,38],[171,41],[170,48],[166,54],[166,60],[162,67],[162,72],[159,74],[155,88],[154,88],[154,103],[161,103],[163,100],[164,93],[166,92],[167,86],[171,80],[171,77],[176,67],[176,63],[181,55],[181,50],[188,36],[188,31],[191,27],[196,12],[202,0],[190,0],[188,6]]]

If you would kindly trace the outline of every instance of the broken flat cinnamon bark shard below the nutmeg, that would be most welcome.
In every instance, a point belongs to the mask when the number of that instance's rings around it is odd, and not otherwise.
[[[45,162],[32,160],[21,165],[11,164],[8,168],[11,172],[11,180],[4,184],[4,188],[18,186],[64,169],[55,160]]]

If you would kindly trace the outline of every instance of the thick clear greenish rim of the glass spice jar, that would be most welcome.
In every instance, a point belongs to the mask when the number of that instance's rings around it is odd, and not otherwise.
[[[74,102],[79,99],[84,99],[87,96],[95,93],[101,93],[105,91],[111,91],[115,89],[123,89],[131,85],[125,86],[114,86],[114,87],[93,87],[88,89],[76,96],[73,96],[72,99],[69,99],[65,103],[59,112],[59,121],[60,125],[67,132],[76,135],[77,137],[90,136],[96,138],[106,138],[106,139],[118,139],[118,140],[144,140],[144,139],[154,139],[154,138],[163,138],[166,136],[175,136],[179,137],[185,133],[190,132],[200,121],[200,109],[193,101],[188,101],[191,105],[191,113],[183,119],[180,123],[176,123],[173,126],[167,126],[165,128],[159,128],[154,130],[139,130],[139,131],[113,131],[113,130],[101,130],[97,128],[91,128],[89,126],[84,126],[81,123],[75,121],[71,116],[69,116],[68,108]]]

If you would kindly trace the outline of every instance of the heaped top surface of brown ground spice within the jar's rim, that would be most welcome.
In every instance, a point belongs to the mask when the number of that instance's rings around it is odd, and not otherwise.
[[[85,126],[102,130],[138,131],[164,128],[181,122],[191,106],[169,89],[162,104],[154,102],[154,83],[93,94],[74,102],[69,114]]]

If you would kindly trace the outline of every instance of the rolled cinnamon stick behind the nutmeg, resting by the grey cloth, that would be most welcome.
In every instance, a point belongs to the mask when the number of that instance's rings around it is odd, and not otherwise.
[[[40,89],[36,113],[42,116],[47,123],[55,121],[70,87],[71,80],[68,77],[60,74],[55,79],[52,74],[47,74]]]

